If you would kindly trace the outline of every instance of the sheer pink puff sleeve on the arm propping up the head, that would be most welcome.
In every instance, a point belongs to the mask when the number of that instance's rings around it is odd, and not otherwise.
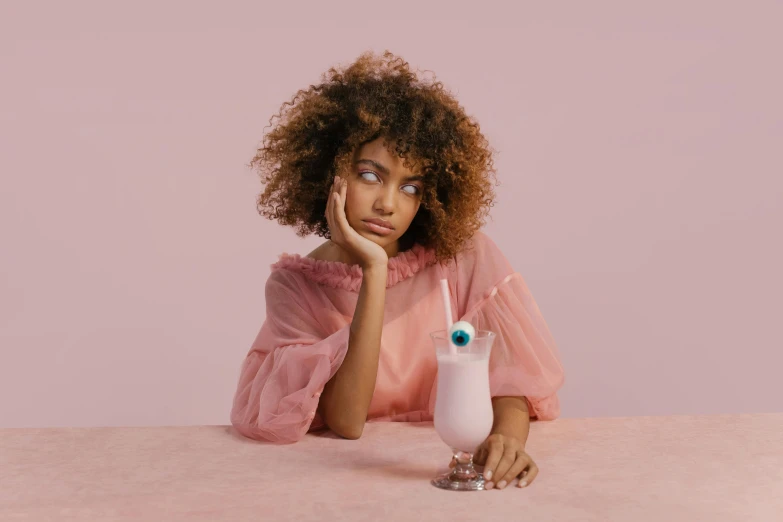
[[[307,296],[286,271],[267,281],[266,320],[242,363],[231,409],[231,423],[247,437],[291,443],[323,426],[318,400],[343,362],[350,324],[330,320]]]

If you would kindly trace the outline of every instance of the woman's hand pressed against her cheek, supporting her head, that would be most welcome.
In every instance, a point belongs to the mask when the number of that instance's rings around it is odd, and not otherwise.
[[[329,201],[326,204],[326,222],[334,243],[358,259],[363,269],[370,267],[386,267],[389,256],[382,246],[362,237],[348,223],[345,216],[345,199],[348,192],[348,182],[340,177],[334,178]]]

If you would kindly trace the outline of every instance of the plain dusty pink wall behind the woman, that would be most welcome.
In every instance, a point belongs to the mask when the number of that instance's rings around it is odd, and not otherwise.
[[[499,151],[564,417],[783,411],[780,4],[278,4],[0,8],[0,427],[228,422],[269,264],[321,241],[245,164],[368,49]]]

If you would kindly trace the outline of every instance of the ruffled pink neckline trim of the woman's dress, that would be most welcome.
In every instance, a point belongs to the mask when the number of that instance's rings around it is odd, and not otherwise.
[[[386,288],[412,277],[417,272],[436,261],[435,251],[418,243],[410,250],[389,258]],[[283,253],[272,270],[291,270],[300,272],[307,279],[333,288],[342,288],[358,292],[362,285],[362,269],[359,265],[349,265],[341,261],[324,261],[299,254]]]

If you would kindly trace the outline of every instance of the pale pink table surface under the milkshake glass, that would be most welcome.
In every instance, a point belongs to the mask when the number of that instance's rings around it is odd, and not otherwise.
[[[531,425],[526,489],[442,491],[431,423],[293,445],[227,426],[0,430],[0,520],[783,520],[783,414]]]

